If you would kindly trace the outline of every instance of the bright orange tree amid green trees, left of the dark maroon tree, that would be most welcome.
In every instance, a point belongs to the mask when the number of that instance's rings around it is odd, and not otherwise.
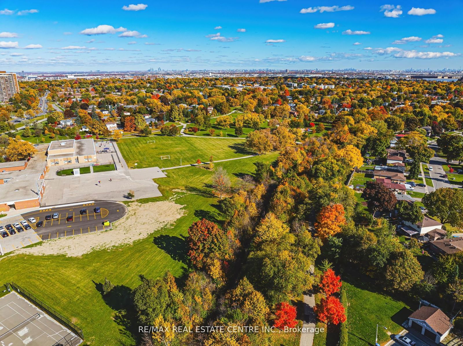
[[[316,236],[326,240],[330,236],[341,231],[341,225],[346,223],[344,218],[344,206],[342,204],[333,204],[323,207],[317,215],[315,222]]]

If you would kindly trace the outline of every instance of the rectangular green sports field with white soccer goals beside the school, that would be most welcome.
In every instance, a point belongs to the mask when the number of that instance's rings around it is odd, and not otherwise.
[[[181,164],[194,164],[196,160],[209,161],[226,158],[239,158],[250,155],[244,148],[244,140],[238,139],[209,139],[154,136],[149,140],[156,143],[147,144],[147,138],[127,138],[119,140],[118,146],[127,162],[133,168],[144,167],[174,167]],[[170,159],[161,160],[161,156],[170,155]]]

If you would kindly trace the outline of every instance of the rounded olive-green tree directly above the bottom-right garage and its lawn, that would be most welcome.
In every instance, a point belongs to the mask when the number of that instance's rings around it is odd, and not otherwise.
[[[403,249],[391,254],[386,266],[384,285],[391,291],[409,291],[424,277],[419,261],[410,250]]]

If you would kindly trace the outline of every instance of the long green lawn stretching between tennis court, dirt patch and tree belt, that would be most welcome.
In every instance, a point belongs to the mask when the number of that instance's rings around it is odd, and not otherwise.
[[[232,183],[235,183],[238,179],[236,175],[254,172],[254,162],[272,162],[277,156],[275,152],[217,163],[216,167],[224,167]],[[186,213],[172,227],[156,231],[132,245],[109,251],[96,250],[81,257],[6,257],[1,261],[1,266],[8,270],[0,271],[0,282],[13,281],[69,318],[83,330],[83,345],[136,345],[139,340],[134,340],[132,332],[138,334],[138,324],[125,317],[123,311],[129,314],[133,311],[128,302],[131,289],[140,284],[140,276],[156,278],[166,270],[180,276],[186,268],[186,243],[183,237],[188,227],[203,217],[222,223],[222,214],[217,209],[219,200],[208,187],[212,175],[211,171],[186,167],[169,170],[167,178],[156,179],[163,196],[140,202],[166,200],[176,194],[175,202],[184,205]],[[85,241],[85,236],[81,237]],[[115,285],[110,297],[103,297],[97,290],[105,277]]]

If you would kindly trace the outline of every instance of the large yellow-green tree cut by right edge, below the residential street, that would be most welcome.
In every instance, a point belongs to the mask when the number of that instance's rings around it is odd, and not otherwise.
[[[463,226],[463,191],[454,188],[438,188],[425,194],[423,204],[431,216],[437,216],[441,223],[455,227]]]

